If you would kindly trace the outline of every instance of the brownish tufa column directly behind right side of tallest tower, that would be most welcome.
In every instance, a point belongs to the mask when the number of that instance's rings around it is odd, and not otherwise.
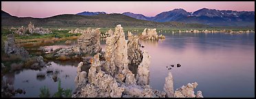
[[[140,50],[140,43],[138,36],[134,36],[128,32],[128,59],[129,64],[139,65],[142,61],[142,51]]]

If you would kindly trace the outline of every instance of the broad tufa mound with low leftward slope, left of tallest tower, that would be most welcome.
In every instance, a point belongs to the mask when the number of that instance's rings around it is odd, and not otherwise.
[[[101,52],[100,31],[88,28],[78,38],[78,44],[67,49],[61,49],[54,56],[74,56],[81,54],[96,54]]]

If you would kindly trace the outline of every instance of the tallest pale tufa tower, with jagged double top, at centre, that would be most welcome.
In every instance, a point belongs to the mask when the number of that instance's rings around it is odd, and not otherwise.
[[[123,69],[128,69],[127,42],[121,25],[116,26],[115,32],[109,30],[107,34],[110,36],[106,39],[104,67],[106,72],[113,76],[122,73]]]

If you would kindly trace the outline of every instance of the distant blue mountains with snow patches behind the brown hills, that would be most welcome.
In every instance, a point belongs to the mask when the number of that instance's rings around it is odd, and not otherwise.
[[[81,15],[90,16],[92,13],[81,12]],[[94,12],[96,14],[107,14],[106,12]],[[135,19],[155,21],[155,22],[182,22],[182,23],[202,23],[213,26],[254,26],[254,11],[233,11],[233,10],[215,10],[202,8],[195,12],[186,12],[183,9],[174,9],[167,12],[161,12],[155,17],[145,17],[143,14],[134,14],[132,12],[122,13]]]

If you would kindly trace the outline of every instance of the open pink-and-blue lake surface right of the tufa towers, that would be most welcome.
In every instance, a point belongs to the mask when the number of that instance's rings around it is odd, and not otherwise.
[[[255,39],[250,34],[164,34],[157,46],[141,42],[151,56],[149,84],[163,91],[170,64],[174,89],[198,82],[205,97],[254,97]],[[246,80],[246,82],[244,82]],[[223,90],[225,89],[225,90]]]

